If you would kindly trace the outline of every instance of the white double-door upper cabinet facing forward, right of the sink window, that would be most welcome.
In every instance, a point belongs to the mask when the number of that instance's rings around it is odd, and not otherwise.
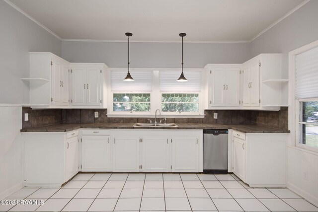
[[[209,74],[209,108],[239,107],[239,67],[236,64],[208,64],[205,67]]]

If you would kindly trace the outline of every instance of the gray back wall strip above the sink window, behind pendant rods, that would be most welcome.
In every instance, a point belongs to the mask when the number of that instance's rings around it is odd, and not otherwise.
[[[208,63],[242,63],[249,59],[248,43],[183,45],[185,68],[203,68]],[[109,67],[127,67],[127,42],[62,41],[62,58],[73,63],[105,63]],[[130,43],[130,66],[179,68],[181,43]]]

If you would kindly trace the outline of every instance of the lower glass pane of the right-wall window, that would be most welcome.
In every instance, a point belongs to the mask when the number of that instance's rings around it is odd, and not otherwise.
[[[318,126],[310,124],[302,124],[303,144],[318,147]]]

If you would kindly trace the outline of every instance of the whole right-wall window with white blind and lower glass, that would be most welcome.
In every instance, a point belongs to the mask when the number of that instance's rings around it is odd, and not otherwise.
[[[296,146],[318,151],[318,47],[294,56]]]

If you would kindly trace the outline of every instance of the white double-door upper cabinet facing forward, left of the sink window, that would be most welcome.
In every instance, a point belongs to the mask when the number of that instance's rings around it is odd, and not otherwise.
[[[107,66],[71,64],[71,108],[107,107]]]

